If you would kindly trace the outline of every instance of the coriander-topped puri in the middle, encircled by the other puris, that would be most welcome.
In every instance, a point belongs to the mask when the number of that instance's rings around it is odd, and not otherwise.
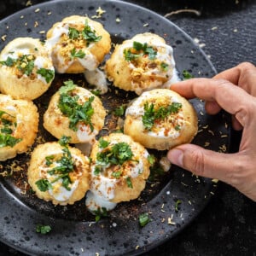
[[[74,85],[67,91],[63,88],[50,99],[44,128],[58,139],[71,137],[70,143],[94,143],[106,116],[102,101],[82,87]]]

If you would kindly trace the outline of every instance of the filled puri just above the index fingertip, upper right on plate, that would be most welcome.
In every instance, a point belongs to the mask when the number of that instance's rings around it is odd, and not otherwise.
[[[114,86],[141,95],[172,79],[174,67],[172,47],[164,38],[146,32],[116,45],[106,73]]]

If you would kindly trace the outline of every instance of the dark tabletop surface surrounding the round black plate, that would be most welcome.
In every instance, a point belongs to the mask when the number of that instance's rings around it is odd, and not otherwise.
[[[1,17],[25,7],[26,1],[0,3]],[[23,3],[22,3],[23,2]],[[43,1],[32,1],[39,3]],[[172,3],[174,2],[174,3]],[[199,44],[220,72],[241,61],[256,62],[255,1],[133,1],[160,15],[177,9],[197,9],[201,15],[183,12],[168,19],[180,26]],[[208,1],[207,1],[208,2]],[[240,133],[232,137],[236,151]],[[256,207],[236,189],[221,183],[203,212],[182,233],[145,255],[255,255]],[[1,244],[0,255],[24,255]]]

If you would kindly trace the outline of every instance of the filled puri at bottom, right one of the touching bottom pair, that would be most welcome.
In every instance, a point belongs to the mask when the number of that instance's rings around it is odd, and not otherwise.
[[[149,176],[148,155],[141,144],[124,134],[102,137],[90,154],[90,191],[114,203],[136,199]]]

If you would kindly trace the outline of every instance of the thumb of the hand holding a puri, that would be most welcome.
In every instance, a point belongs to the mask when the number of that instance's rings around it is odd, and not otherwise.
[[[172,164],[182,167],[195,175],[217,178],[225,183],[234,183],[232,164],[234,155],[213,152],[194,144],[183,144],[172,148],[167,158]]]

